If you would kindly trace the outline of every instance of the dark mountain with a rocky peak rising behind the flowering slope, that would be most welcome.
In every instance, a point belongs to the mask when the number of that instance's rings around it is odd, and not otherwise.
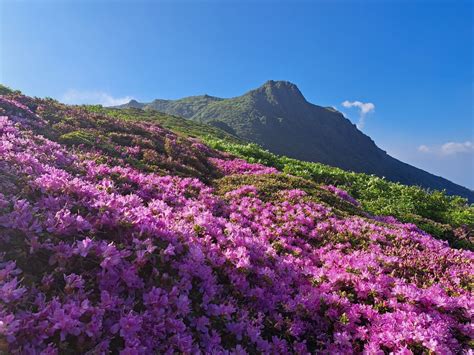
[[[407,185],[445,189],[474,201],[473,191],[391,157],[340,112],[309,103],[287,81],[271,80],[230,99],[203,95],[148,104],[132,100],[121,107],[182,116],[215,125],[277,154],[385,176]]]

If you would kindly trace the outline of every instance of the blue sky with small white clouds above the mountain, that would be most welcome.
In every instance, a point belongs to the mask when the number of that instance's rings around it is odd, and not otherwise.
[[[0,2],[0,82],[66,103],[288,80],[394,157],[474,189],[473,1]]]

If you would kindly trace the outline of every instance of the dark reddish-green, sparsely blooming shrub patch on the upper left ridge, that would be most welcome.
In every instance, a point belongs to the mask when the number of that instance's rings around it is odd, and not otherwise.
[[[33,129],[52,141],[74,147],[81,154],[95,153],[97,160],[132,165],[142,171],[199,177],[219,175],[207,150],[195,140],[177,136],[152,121],[124,120],[84,107],[27,96],[0,96],[0,116]]]

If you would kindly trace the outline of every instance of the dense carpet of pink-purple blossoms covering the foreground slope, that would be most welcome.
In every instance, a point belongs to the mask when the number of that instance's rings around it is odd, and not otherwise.
[[[304,189],[71,149],[38,134],[41,108],[0,100],[0,352],[469,353],[472,252]],[[283,179],[193,149],[223,181]]]

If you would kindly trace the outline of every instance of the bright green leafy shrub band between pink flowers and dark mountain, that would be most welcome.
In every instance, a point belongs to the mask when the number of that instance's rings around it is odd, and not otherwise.
[[[469,205],[465,198],[394,183],[374,175],[279,156],[256,144],[236,144],[212,138],[207,139],[206,144],[248,162],[271,166],[316,184],[340,187],[373,215],[393,216],[400,221],[414,223],[426,232],[448,240],[454,247],[474,250],[474,205]],[[287,183],[290,184],[289,181]],[[273,184],[274,181],[270,186]],[[301,186],[295,184],[293,188],[301,189]]]

